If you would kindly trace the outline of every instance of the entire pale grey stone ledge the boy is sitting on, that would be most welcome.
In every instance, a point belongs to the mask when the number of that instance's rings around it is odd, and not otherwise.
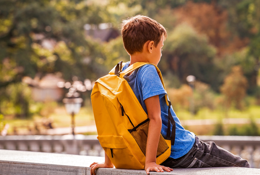
[[[89,175],[90,167],[94,161],[104,161],[104,157],[80,156],[70,154],[40,153],[30,151],[0,150],[0,174],[1,175]],[[146,174],[144,170],[100,168],[96,175],[135,175]],[[260,174],[260,169],[218,167],[198,169],[173,169],[172,172],[155,174]]]

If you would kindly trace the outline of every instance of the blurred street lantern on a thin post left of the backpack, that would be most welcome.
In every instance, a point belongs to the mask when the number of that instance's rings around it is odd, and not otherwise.
[[[82,98],[79,98],[79,93],[75,91],[69,91],[66,95],[67,98],[63,99],[65,108],[68,114],[71,115],[71,128],[72,134],[75,135],[75,118],[74,115],[79,113],[81,103],[83,102]]]

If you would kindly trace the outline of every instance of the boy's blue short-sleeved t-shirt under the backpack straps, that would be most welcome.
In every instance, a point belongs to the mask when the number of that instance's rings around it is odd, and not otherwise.
[[[128,68],[130,62],[127,62],[123,70]],[[162,129],[161,134],[166,138],[167,126],[168,126],[168,106],[166,104],[164,95],[166,94],[165,89],[161,83],[160,77],[156,71],[156,68],[151,64],[146,64],[140,68],[137,68],[129,76],[124,76],[128,84],[132,88],[136,98],[142,105],[144,111],[147,114],[147,109],[144,100],[159,95],[161,118],[162,118]],[[170,157],[177,159],[184,156],[189,152],[195,142],[195,134],[185,130],[181,126],[180,120],[177,118],[173,108],[170,109],[174,121],[176,122],[176,136],[174,146],[171,146]],[[171,124],[172,128],[172,124]]]

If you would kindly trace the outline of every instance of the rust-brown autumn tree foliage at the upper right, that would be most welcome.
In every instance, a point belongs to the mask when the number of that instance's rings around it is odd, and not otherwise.
[[[248,43],[248,39],[241,40],[232,35],[227,29],[228,11],[213,1],[211,4],[189,1],[179,7],[174,14],[179,23],[188,22],[196,31],[206,34],[209,43],[217,48],[219,54],[232,53]]]

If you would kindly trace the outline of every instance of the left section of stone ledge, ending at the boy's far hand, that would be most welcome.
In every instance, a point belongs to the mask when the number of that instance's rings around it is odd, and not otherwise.
[[[1,175],[86,175],[86,167],[104,157],[0,150]]]

